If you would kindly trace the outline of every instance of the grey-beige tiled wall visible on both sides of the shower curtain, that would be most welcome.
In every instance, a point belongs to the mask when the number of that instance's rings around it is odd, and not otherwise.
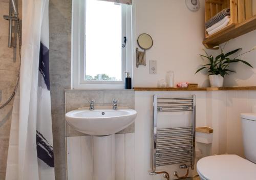
[[[19,0],[20,18],[21,5],[22,0]],[[70,88],[71,11],[71,0],[49,2],[50,81],[56,180],[66,179],[64,89]],[[8,48],[8,21],[3,19],[3,15],[8,14],[9,0],[0,0],[0,104],[12,94],[19,63],[16,49]],[[12,103],[11,101],[0,110],[0,179],[5,178]]]

